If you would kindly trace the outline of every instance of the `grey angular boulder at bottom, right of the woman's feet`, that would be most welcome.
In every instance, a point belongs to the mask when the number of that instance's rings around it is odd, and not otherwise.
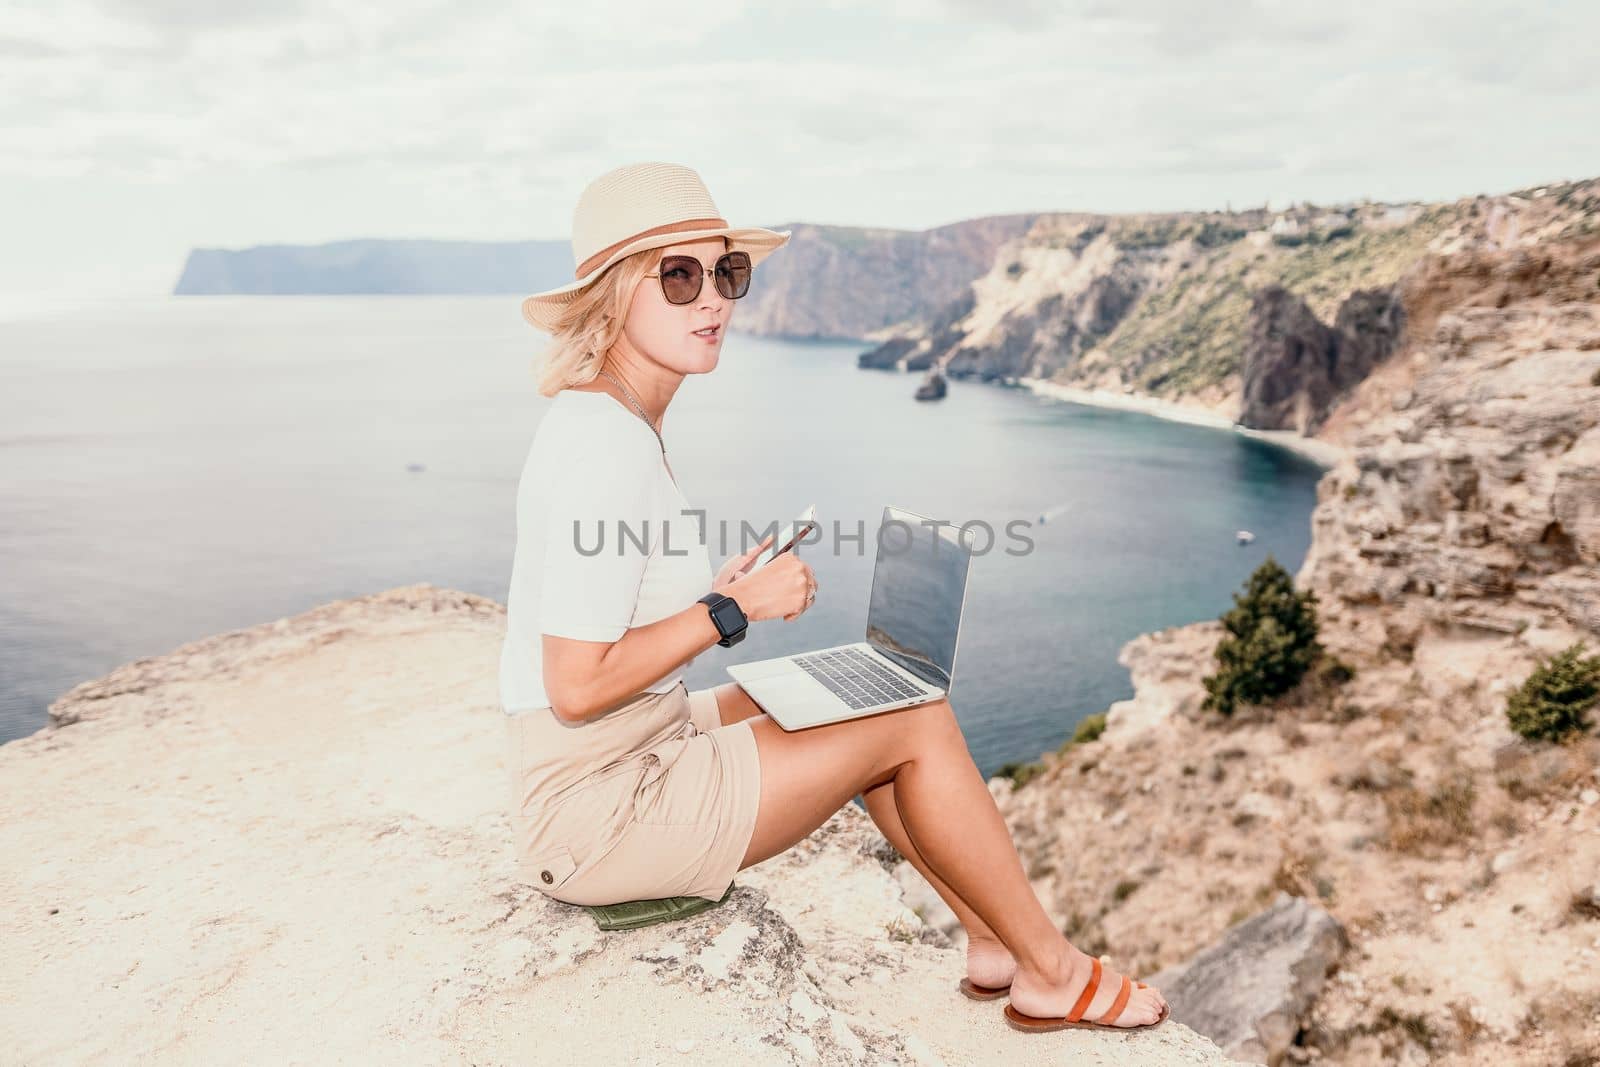
[[[1214,945],[1149,981],[1174,1017],[1229,1056],[1277,1067],[1347,947],[1339,920],[1280,891]]]

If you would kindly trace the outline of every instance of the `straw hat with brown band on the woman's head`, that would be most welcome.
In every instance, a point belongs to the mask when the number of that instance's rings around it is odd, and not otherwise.
[[[789,240],[792,230],[733,227],[717,211],[706,182],[678,163],[629,163],[589,182],[573,211],[571,285],[523,298],[522,317],[547,333],[562,309],[616,261],[646,248],[726,237],[730,251],[750,254],[754,267]]]

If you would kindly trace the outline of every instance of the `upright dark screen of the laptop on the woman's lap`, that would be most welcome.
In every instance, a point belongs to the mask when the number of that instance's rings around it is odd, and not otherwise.
[[[867,643],[917,677],[950,688],[971,545],[952,523],[883,509],[867,605]]]

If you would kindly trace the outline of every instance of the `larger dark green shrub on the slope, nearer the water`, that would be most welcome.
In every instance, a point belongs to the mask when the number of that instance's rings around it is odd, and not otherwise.
[[[1288,693],[1323,654],[1317,643],[1317,593],[1296,590],[1272,555],[1250,576],[1245,592],[1234,593],[1222,627],[1227,635],[1216,643],[1218,672],[1205,678],[1202,704],[1222,715]]]

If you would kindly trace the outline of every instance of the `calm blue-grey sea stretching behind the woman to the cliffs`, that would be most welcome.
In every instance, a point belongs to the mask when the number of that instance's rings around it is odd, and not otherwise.
[[[816,504],[827,536],[803,553],[811,611],[699,656],[690,688],[861,640],[885,504],[987,522],[952,702],[994,773],[1130,696],[1125,641],[1216,617],[1269,552],[1304,558],[1320,470],[1280,448],[974,382],[917,403],[917,376],[856,370],[866,346],[733,326],[664,427],[714,566],[741,520]],[[328,600],[426,581],[504,601],[549,403],[541,346],[506,298],[166,298],[0,322],[0,741],[122,662]],[[835,520],[866,541],[835,542]],[[1013,520],[1032,523],[1019,555]]]

